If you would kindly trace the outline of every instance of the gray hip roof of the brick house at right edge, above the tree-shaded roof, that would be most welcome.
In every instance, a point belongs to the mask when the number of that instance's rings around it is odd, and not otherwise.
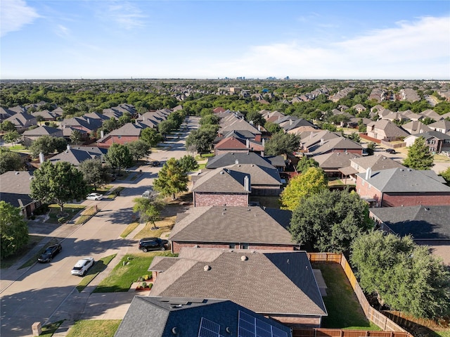
[[[365,179],[365,173],[356,174]],[[438,177],[434,171],[417,171],[403,168],[392,168],[372,172],[366,180],[369,184],[382,192],[447,192],[450,187],[443,184],[444,179]]]

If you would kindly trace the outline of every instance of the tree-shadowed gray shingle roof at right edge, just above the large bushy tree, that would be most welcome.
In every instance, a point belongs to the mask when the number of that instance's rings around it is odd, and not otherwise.
[[[450,205],[371,208],[370,211],[400,236],[450,239]]]

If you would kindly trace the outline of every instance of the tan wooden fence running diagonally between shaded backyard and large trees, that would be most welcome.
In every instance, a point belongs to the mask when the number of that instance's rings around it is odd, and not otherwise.
[[[342,269],[345,272],[345,275],[347,276],[347,279],[352,285],[356,298],[358,298],[359,304],[361,305],[361,308],[369,321],[373,322],[377,326],[380,326],[380,328],[384,331],[401,332],[406,333],[407,336],[411,336],[411,334],[402,329],[401,326],[397,325],[384,314],[371,307],[371,305],[368,303],[368,300],[366,299],[366,296],[364,295],[363,290],[359,286],[358,281],[356,281],[356,276],[354,276],[352,268],[350,267],[349,262],[347,262],[347,259],[344,255],[340,253],[307,253],[307,255],[309,261],[311,262],[336,262],[341,265]],[[371,334],[371,336],[375,335]]]

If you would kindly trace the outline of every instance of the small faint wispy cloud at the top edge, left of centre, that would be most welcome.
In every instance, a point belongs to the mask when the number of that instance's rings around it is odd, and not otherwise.
[[[132,30],[136,27],[143,27],[142,19],[146,18],[142,11],[127,1],[120,1],[108,7],[108,17],[114,20],[120,27]]]

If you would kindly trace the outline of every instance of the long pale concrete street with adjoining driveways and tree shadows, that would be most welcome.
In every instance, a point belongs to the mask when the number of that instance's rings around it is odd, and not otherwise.
[[[184,142],[188,132],[198,127],[198,118],[186,121],[188,130],[181,132],[179,139],[172,138],[150,155],[151,160],[165,162],[169,158],[186,155]],[[65,323],[53,336],[65,336],[70,325],[77,319],[122,319],[135,293],[91,293],[101,279],[108,276],[123,255],[138,251],[134,239],[122,239],[120,234],[131,222],[133,199],[141,196],[153,179],[158,177],[161,167],[143,165],[134,167],[125,181],[116,180],[117,186],[126,189],[113,200],[84,201],[84,205],[98,205],[100,212],[83,225],[53,225],[32,222],[30,234],[45,236],[39,246],[9,269],[1,270],[0,301],[2,337],[32,336],[34,322],[45,324],[65,319]],[[138,174],[142,170],[142,174]],[[139,175],[131,181],[131,177]],[[143,225],[141,225],[143,226]],[[141,230],[138,227],[136,232]],[[135,233],[129,235],[133,238]],[[35,264],[29,268],[18,269],[29,260],[34,252],[56,238],[63,251],[48,264]],[[99,274],[90,286],[78,293],[75,286],[81,280],[72,276],[75,262],[82,257],[91,256],[95,260],[117,254],[115,260]],[[140,293],[141,295],[141,293]]]

